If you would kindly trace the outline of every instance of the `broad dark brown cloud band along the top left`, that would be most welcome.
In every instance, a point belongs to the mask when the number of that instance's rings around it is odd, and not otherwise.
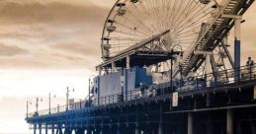
[[[0,21],[12,24],[58,23],[75,24],[83,21],[99,23],[108,13],[107,8],[91,2],[84,5],[72,5],[64,2],[20,3],[5,1],[0,6]]]

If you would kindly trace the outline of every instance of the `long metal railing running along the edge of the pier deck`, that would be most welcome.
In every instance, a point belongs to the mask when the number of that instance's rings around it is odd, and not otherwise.
[[[187,91],[202,91],[207,88],[215,88],[227,84],[252,81],[256,80],[255,68],[256,64],[251,67],[240,67],[240,69],[238,70],[239,73],[234,73],[235,71],[233,69],[228,69],[207,75],[196,76],[194,78],[173,81],[172,85],[170,83],[162,83],[157,85],[151,85],[149,87],[141,87],[132,91],[128,91],[127,93],[106,96],[100,99],[92,99],[91,101],[77,101],[69,104],[68,106],[58,105],[57,107],[50,108],[50,113],[49,109],[46,109],[41,110],[39,112],[29,113],[28,117],[30,118],[34,116],[61,113],[65,111],[73,111],[78,109],[89,109],[91,107],[103,106],[107,104],[114,104],[130,100],[148,99],[152,97],[171,94],[173,92],[181,93]],[[236,74],[239,74],[239,76],[235,76]]]

